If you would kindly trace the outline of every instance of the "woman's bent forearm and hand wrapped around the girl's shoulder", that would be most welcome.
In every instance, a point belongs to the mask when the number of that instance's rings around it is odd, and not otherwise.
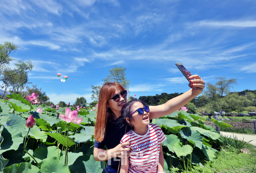
[[[104,150],[98,149],[94,147],[93,150],[93,157],[96,161],[105,161],[113,157],[120,157],[123,158],[125,155],[130,154],[130,148],[125,148],[125,146],[129,145],[129,142],[124,142],[123,144],[119,144],[113,149]],[[125,151],[125,152],[124,152]]]

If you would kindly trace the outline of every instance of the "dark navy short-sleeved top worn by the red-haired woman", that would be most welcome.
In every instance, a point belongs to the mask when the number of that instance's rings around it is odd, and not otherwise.
[[[121,119],[121,116],[116,120],[112,119],[109,121],[106,127],[106,134],[103,141],[98,142],[95,140],[94,142],[95,148],[103,149],[104,146],[106,145],[107,149],[112,149],[120,144],[122,137],[125,135],[125,125],[120,127],[121,126],[120,119]],[[150,122],[152,122],[152,120],[150,120]],[[126,133],[130,130],[131,130],[130,127],[127,126]],[[107,169],[109,171],[115,169],[117,172],[119,160],[120,160],[119,157],[113,157],[109,159]]]

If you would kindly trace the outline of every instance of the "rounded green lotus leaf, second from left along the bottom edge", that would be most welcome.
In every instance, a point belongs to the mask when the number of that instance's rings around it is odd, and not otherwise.
[[[64,165],[57,157],[47,157],[38,163],[37,167],[42,173],[70,173],[68,165]]]

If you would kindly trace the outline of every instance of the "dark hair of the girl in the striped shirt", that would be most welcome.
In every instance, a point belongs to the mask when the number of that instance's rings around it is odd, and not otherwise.
[[[122,125],[126,125],[128,127],[131,127],[131,129],[134,129],[133,125],[131,124],[133,122],[133,115],[131,115],[131,113],[133,113],[133,104],[135,102],[141,102],[143,104],[143,106],[145,107],[146,106],[146,103],[143,102],[142,100],[131,100],[130,102],[126,103],[123,107],[122,107],[122,110],[121,110],[121,122],[125,122],[125,123],[120,123],[120,126]],[[131,123],[128,123],[126,121],[126,118],[128,118],[128,120],[131,122]]]

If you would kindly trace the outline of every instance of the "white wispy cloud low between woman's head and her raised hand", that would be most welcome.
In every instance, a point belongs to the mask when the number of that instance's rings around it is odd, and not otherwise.
[[[152,84],[138,84],[131,86],[129,89],[131,92],[149,92],[149,91],[162,91],[161,87],[164,85],[152,85]]]

